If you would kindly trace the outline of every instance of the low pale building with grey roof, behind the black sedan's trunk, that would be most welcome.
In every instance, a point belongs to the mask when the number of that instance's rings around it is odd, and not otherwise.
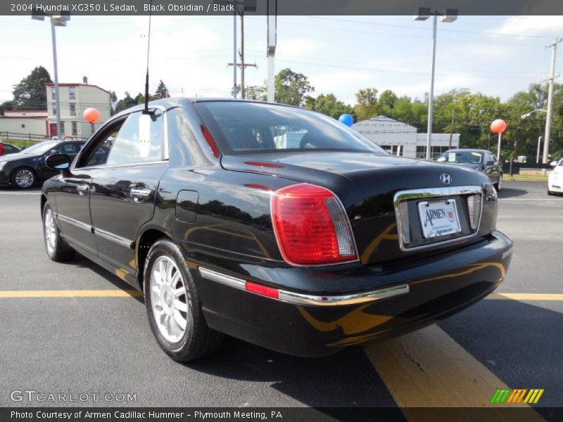
[[[417,134],[417,128],[410,124],[379,116],[355,123],[352,129],[393,155],[426,158],[426,134]],[[459,145],[460,134],[453,134],[451,148],[458,148]],[[432,134],[432,158],[437,158],[448,148],[450,148],[450,134]]]

